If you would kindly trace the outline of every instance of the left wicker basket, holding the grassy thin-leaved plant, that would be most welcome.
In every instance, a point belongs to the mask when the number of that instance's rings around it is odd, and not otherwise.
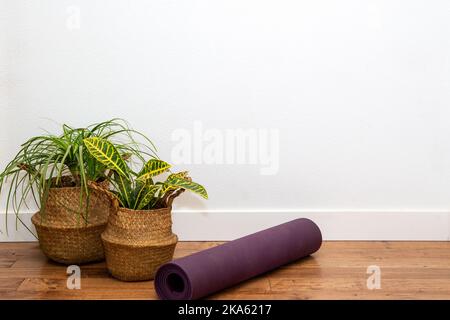
[[[89,206],[81,201],[79,187],[50,188],[45,214],[37,212],[31,218],[44,254],[59,263],[81,264],[104,259],[101,233],[108,216],[116,210],[102,188],[91,184]],[[41,209],[42,211],[42,209]]]

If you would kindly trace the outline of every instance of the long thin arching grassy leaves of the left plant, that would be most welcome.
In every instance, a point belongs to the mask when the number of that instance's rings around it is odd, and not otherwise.
[[[122,160],[133,157],[144,164],[146,158],[156,157],[152,142],[122,119],[85,128],[64,124],[61,129],[58,135],[48,133],[27,140],[0,173],[0,192],[7,188],[6,213],[12,208],[18,221],[20,210],[24,206],[28,208],[30,199],[45,213],[50,187],[80,187],[81,203],[82,198],[89,196],[89,182],[107,179],[108,165],[91,155],[86,139],[108,139]]]

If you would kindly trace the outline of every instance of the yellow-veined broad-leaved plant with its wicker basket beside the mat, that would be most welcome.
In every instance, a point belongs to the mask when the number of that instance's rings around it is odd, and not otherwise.
[[[107,268],[124,281],[152,279],[157,268],[172,259],[178,241],[172,233],[174,198],[184,190],[205,199],[208,194],[187,172],[155,182],[156,176],[170,170],[165,161],[150,159],[134,171],[108,140],[91,137],[84,142],[91,155],[112,172],[111,194],[118,210],[111,213],[102,233]]]

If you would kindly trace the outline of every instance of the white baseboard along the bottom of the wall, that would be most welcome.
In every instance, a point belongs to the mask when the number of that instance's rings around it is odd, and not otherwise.
[[[21,217],[31,226],[31,214]],[[448,211],[175,210],[173,229],[182,241],[232,240],[301,217],[315,221],[324,240],[450,240]],[[36,240],[20,224],[16,230],[14,215],[8,225],[7,235],[0,214],[0,242]]]

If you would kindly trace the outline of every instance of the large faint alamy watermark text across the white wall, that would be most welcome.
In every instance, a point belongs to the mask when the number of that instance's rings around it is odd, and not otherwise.
[[[280,134],[277,129],[204,129],[195,121],[192,130],[172,132],[174,164],[258,165],[260,174],[279,169]]]

